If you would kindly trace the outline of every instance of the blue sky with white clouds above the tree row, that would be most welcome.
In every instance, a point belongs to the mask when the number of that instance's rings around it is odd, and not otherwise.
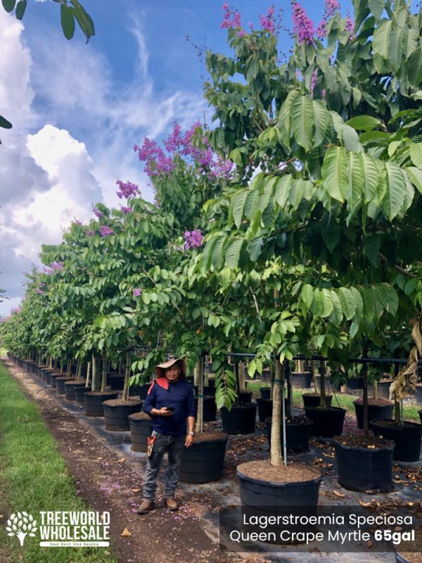
[[[22,23],[0,6],[0,114],[13,123],[0,129],[0,315],[20,302],[23,272],[39,265],[42,243],[59,243],[72,220],[90,220],[93,204],[118,207],[117,179],[153,201],[135,143],[167,136],[174,121],[212,122],[193,44],[229,52],[222,0],[82,4],[96,26],[88,44],[79,29],[71,41],[63,37],[52,1],[28,3]],[[302,4],[317,24],[324,1]],[[245,27],[259,27],[270,5],[233,3]],[[291,27],[290,4],[275,8]],[[287,52],[288,34],[279,42]]]

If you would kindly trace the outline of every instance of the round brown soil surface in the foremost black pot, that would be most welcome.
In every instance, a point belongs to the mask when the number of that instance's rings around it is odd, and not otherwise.
[[[267,460],[242,463],[238,466],[238,471],[252,479],[273,483],[302,483],[303,481],[313,481],[321,476],[318,469],[308,465],[292,463],[274,467]]]

